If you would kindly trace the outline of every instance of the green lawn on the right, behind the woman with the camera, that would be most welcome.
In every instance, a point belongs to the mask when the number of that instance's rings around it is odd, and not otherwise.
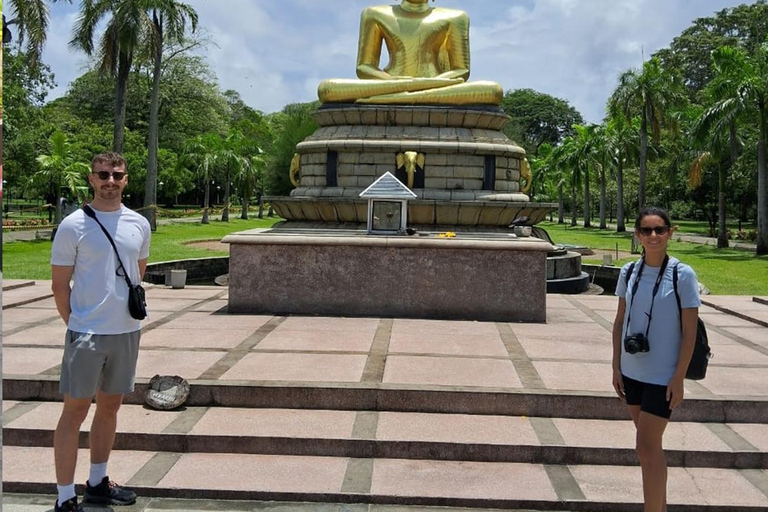
[[[583,245],[591,249],[629,252],[631,232],[616,233],[596,228],[569,227],[542,222],[555,243]],[[716,249],[714,246],[670,242],[669,253],[687,263],[710,292],[717,295],[768,295],[768,256],[757,257],[753,252],[736,249]],[[639,256],[621,258],[622,265]],[[602,263],[602,258],[584,258],[585,263]]]

